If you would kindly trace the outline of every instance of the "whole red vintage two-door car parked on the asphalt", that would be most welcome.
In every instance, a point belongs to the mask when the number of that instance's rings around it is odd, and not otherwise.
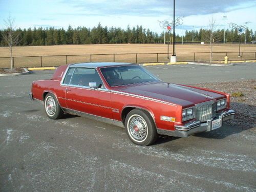
[[[77,63],[33,81],[32,100],[44,101],[49,118],[63,113],[125,127],[132,142],[150,145],[158,134],[187,137],[232,119],[229,94],[166,83],[131,63]]]

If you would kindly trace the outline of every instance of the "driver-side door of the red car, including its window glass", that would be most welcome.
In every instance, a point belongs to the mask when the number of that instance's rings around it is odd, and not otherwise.
[[[113,119],[111,93],[104,88],[97,70],[92,68],[70,68],[69,70],[67,74],[72,73],[72,76],[67,81],[64,80],[67,108]],[[89,82],[96,82],[96,86],[100,88],[90,88]]]

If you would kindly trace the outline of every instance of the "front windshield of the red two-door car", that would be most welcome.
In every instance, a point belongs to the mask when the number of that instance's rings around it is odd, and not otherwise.
[[[150,74],[141,66],[118,66],[102,68],[100,70],[111,87],[160,81],[160,79]]]

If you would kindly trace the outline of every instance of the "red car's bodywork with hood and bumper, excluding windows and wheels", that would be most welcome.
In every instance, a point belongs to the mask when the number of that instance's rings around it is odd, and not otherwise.
[[[162,81],[127,84],[111,87],[104,78],[101,68],[134,65],[128,63],[80,63],[60,66],[50,80],[33,81],[32,100],[44,101],[52,93],[64,112],[85,115],[124,127],[125,116],[133,109],[141,109],[154,120],[157,133],[186,137],[198,132],[211,131],[212,121],[232,119],[234,111],[229,109],[229,94],[203,88],[166,83]],[[70,67],[90,67],[98,72],[104,89],[72,87],[63,84]],[[218,100],[225,99],[225,108],[211,109]],[[205,103],[205,104],[204,104]],[[205,117],[206,106],[215,109],[215,117]],[[183,110],[195,107],[194,118],[183,120]],[[201,111],[200,111],[201,110]],[[184,112],[185,113],[185,112]],[[198,114],[201,114],[199,117]],[[198,118],[197,118],[198,117]],[[200,120],[201,119],[201,120]]]

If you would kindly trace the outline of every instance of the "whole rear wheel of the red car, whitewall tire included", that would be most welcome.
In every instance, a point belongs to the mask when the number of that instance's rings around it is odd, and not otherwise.
[[[47,116],[51,119],[59,119],[63,115],[63,111],[52,93],[48,93],[45,97],[45,111]]]

